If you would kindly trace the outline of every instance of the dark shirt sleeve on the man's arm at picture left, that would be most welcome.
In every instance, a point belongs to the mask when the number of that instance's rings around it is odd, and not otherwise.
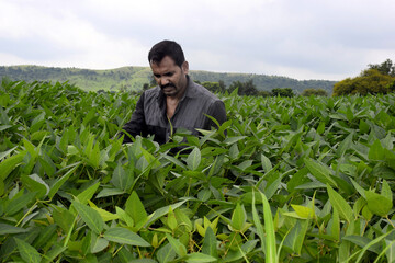
[[[132,114],[131,121],[126,123],[122,129],[123,132],[120,133],[120,136],[125,135],[123,144],[132,142],[132,139],[127,134],[133,137],[136,137],[137,135],[146,136],[147,125],[144,115],[144,93],[137,101],[136,108]],[[126,132],[127,134],[124,132]]]

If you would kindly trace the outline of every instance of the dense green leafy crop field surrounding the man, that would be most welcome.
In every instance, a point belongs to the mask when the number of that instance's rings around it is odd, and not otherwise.
[[[395,262],[395,94],[221,98],[122,145],[138,98],[3,80],[0,262]]]

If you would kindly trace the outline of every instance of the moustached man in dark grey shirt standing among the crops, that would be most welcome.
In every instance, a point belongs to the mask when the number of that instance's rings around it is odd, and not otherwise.
[[[134,137],[154,135],[154,140],[161,145],[177,128],[199,135],[196,128],[215,127],[205,115],[219,124],[226,121],[224,103],[188,76],[189,65],[179,44],[159,42],[149,52],[148,61],[158,85],[142,94],[132,119],[123,127],[125,132]],[[132,139],[125,134],[123,142]]]

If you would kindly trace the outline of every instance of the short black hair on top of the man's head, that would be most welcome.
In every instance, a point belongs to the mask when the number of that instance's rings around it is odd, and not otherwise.
[[[162,41],[155,44],[148,53],[148,61],[160,62],[166,56],[174,60],[179,67],[185,61],[181,46],[173,41]]]

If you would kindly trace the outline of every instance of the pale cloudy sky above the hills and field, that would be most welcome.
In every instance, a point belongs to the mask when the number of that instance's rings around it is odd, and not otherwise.
[[[0,0],[0,66],[148,66],[162,39],[192,70],[356,77],[395,60],[394,0]]]

